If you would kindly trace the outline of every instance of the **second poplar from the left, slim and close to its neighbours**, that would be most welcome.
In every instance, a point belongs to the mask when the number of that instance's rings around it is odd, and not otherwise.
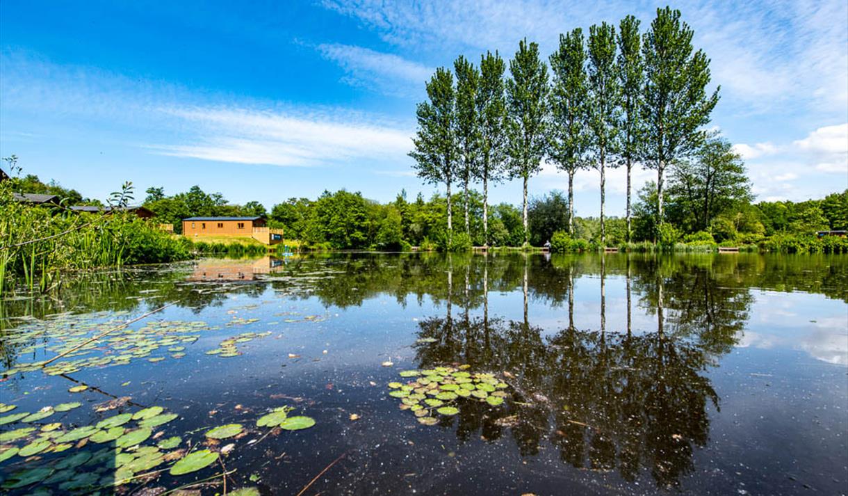
[[[466,217],[466,234],[470,232],[468,220],[468,183],[475,176],[477,153],[480,149],[480,127],[477,121],[477,86],[480,71],[460,55],[454,62],[456,74],[456,145],[459,162],[456,172],[462,181],[462,204]]]

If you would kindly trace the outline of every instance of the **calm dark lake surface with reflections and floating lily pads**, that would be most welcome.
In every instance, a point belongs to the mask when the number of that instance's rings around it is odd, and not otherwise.
[[[207,259],[7,299],[0,328],[0,449],[29,447],[0,492],[848,492],[848,256]],[[284,406],[315,426],[257,426]]]

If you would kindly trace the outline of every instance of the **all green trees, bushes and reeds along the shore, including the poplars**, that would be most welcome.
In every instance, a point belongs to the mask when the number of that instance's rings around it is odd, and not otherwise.
[[[693,47],[693,35],[678,10],[658,8],[644,31],[627,16],[617,26],[593,25],[587,35],[581,28],[562,34],[547,60],[524,39],[508,61],[487,52],[479,66],[460,56],[453,70],[438,68],[416,107],[410,150],[419,178],[445,186],[429,200],[408,200],[402,190],[382,204],[341,189],[266,211],[259,201],[232,205],[198,186],[171,195],[152,187],[140,203],[155,217],[145,221],[125,211],[135,200],[131,183],[103,204],[32,174],[20,177],[18,158],[8,156],[8,178],[0,181],[0,292],[49,291],[68,271],[275,251],[848,253],[848,189],[821,200],[754,203],[742,157],[710,130],[721,87],[711,87],[710,60]],[[567,193],[528,191],[543,161],[566,172]],[[605,216],[605,170],[618,166],[628,178],[623,218]],[[632,202],[634,166],[657,175]],[[600,215],[578,217],[573,179],[589,171],[599,174]],[[520,208],[489,205],[489,188],[506,179],[522,181]],[[14,197],[25,193],[61,200],[42,206]],[[75,205],[103,210],[71,211]],[[183,218],[233,216],[265,217],[286,241],[271,248],[181,236]]]

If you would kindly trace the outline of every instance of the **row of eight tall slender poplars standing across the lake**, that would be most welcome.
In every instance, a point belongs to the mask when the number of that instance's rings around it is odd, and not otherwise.
[[[656,213],[662,219],[667,166],[694,155],[706,142],[704,127],[718,89],[707,92],[709,59],[693,48],[692,37],[678,10],[658,8],[644,33],[639,20],[628,16],[617,31],[605,22],[591,26],[588,40],[581,28],[561,35],[549,58],[552,77],[538,44],[526,39],[510,60],[508,78],[497,52],[483,55],[479,68],[460,56],[453,73],[436,70],[427,82],[427,101],[417,105],[418,130],[410,152],[416,171],[427,182],[444,183],[449,199],[452,184],[461,183],[466,233],[469,183],[483,184],[487,243],[488,183],[521,178],[527,243],[527,181],[542,161],[568,174],[569,219],[574,217],[574,174],[597,169],[603,243],[605,169],[625,166],[629,240],[633,166],[656,169]],[[574,233],[573,223],[568,231]]]

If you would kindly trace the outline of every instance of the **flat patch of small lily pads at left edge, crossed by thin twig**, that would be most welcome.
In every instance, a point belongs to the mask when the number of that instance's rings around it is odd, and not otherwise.
[[[15,330],[15,334],[9,337],[11,343],[25,344],[36,341],[35,338],[49,335],[50,343],[32,344],[22,348],[22,352],[35,352],[37,348],[43,347],[47,352],[57,354],[68,352],[75,347],[90,340],[92,336],[103,333],[105,330],[120,325],[119,320],[105,322],[93,322],[91,318],[83,319],[75,316],[63,316],[62,318],[48,319],[38,324],[22,326]],[[47,364],[45,361],[15,364],[12,369],[3,372],[3,375],[14,375],[18,372],[30,372],[43,369],[47,375],[60,375],[78,372],[81,369],[92,367],[106,367],[113,365],[126,365],[134,359],[148,358],[153,352],[165,348],[171,358],[182,358],[185,356],[183,345],[197,341],[198,334],[204,330],[212,330],[204,322],[182,322],[182,321],[152,321],[139,329],[117,330],[114,334],[103,337],[102,340],[93,341],[85,346],[70,352],[63,358]],[[5,338],[4,338],[5,339]],[[165,356],[148,358],[151,362],[164,360]]]

